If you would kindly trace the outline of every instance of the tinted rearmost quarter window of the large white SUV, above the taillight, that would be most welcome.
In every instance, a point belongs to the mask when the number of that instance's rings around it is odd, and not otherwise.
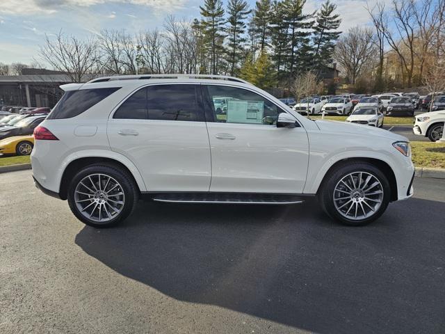
[[[48,119],[57,120],[78,116],[119,89],[120,87],[70,90],[63,94]]]

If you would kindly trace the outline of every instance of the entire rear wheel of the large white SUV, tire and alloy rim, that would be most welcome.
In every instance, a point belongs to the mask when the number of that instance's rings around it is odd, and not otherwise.
[[[73,177],[67,195],[68,205],[79,221],[94,228],[108,228],[133,212],[139,192],[126,171],[98,164],[81,169]]]

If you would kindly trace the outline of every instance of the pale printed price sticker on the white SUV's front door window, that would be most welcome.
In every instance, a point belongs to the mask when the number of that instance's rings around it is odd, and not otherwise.
[[[227,101],[227,122],[262,124],[264,101]]]

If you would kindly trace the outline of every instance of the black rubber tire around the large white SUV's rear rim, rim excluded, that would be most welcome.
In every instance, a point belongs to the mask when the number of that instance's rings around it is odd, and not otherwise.
[[[122,191],[124,192],[125,196],[125,202],[122,212],[120,212],[120,214],[118,214],[118,216],[113,218],[111,221],[107,221],[106,223],[97,223],[97,221],[93,221],[92,219],[83,216],[81,212],[79,212],[79,209],[77,208],[76,202],[74,200],[74,191],[76,189],[77,184],[79,184],[79,182],[83,179],[83,177],[95,173],[109,175],[113,177],[115,180],[117,180],[122,186]],[[127,173],[125,173],[123,170],[121,170],[116,166],[106,166],[106,165],[92,165],[80,170],[79,173],[77,173],[73,177],[67,193],[68,205],[70,205],[70,209],[74,214],[74,216],[76,216],[76,218],[78,218],[79,221],[82,221],[86,225],[90,225],[95,228],[108,228],[123,221],[133,211],[137,199],[138,199],[138,192],[136,191],[136,185],[134,184],[133,180],[131,180],[131,177],[129,177]]]

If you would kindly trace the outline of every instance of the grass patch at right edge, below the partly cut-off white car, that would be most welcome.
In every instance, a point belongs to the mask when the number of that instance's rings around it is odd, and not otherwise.
[[[412,141],[411,149],[416,167],[445,168],[445,143]]]

